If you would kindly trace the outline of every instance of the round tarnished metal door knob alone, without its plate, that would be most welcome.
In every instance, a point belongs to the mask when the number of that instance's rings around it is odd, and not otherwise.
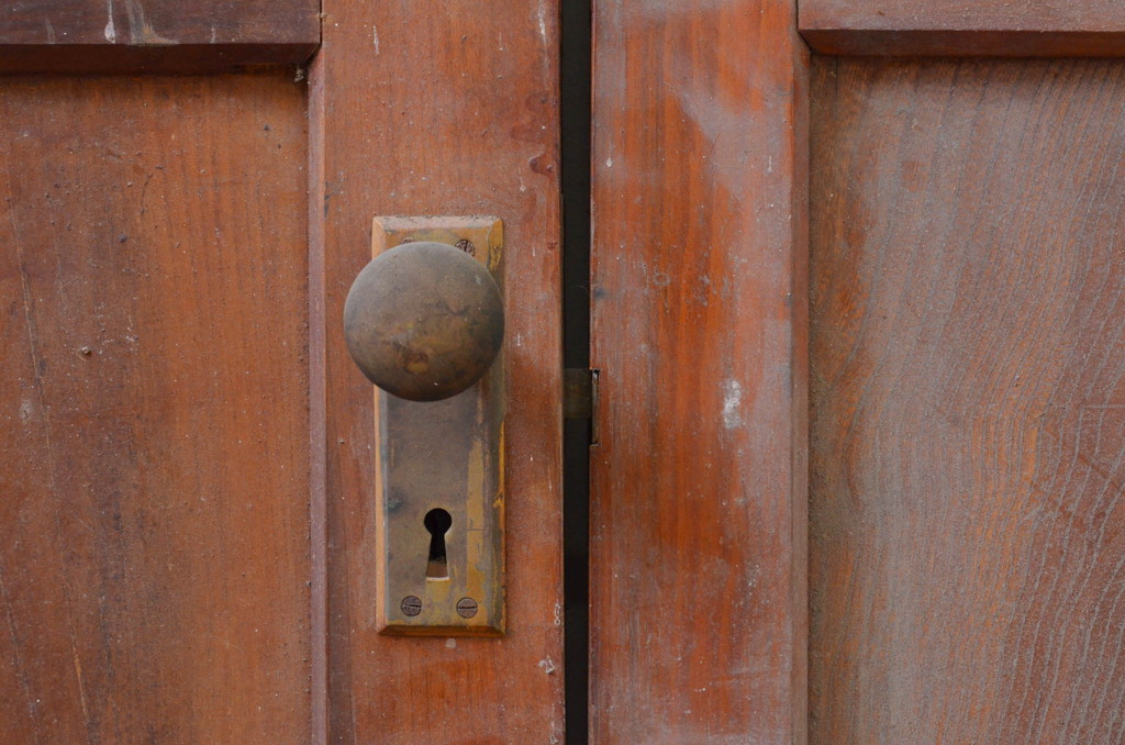
[[[376,257],[344,303],[348,351],[363,375],[411,401],[440,401],[479,380],[504,340],[492,275],[444,243],[404,243]]]

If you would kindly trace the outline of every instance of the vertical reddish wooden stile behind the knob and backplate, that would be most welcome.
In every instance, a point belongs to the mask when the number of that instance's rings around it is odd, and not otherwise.
[[[561,345],[555,2],[326,0],[312,71],[323,179],[330,737],[562,742]],[[504,221],[507,636],[376,625],[375,415],[342,309],[375,215]],[[314,354],[320,352],[314,350]]]

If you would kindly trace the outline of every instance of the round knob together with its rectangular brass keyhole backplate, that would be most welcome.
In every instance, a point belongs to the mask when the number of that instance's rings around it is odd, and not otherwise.
[[[371,228],[343,330],[376,384],[376,628],[502,637],[504,225],[381,216]]]

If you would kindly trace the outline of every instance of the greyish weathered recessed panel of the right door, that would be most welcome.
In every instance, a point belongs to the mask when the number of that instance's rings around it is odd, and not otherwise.
[[[1123,100],[816,64],[814,742],[1125,742]]]

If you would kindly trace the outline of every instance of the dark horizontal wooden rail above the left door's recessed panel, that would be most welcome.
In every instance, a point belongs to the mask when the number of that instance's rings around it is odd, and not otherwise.
[[[0,8],[0,72],[214,72],[303,64],[317,0],[16,0]]]

